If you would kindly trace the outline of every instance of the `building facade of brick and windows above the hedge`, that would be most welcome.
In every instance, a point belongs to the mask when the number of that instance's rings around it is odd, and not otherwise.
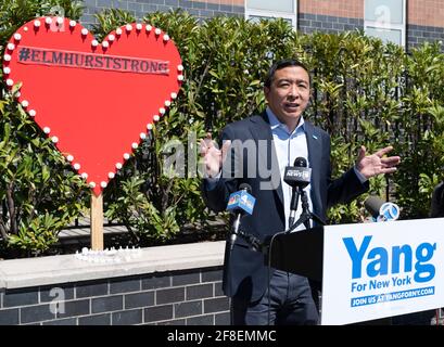
[[[182,9],[199,18],[216,15],[251,20],[283,17],[302,33],[364,30],[409,49],[424,41],[444,41],[442,0],[85,0],[85,24],[105,9],[148,12]]]

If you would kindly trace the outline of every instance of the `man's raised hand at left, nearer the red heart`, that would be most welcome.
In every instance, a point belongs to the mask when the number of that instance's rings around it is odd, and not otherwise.
[[[230,145],[231,141],[225,141],[221,150],[217,149],[215,141],[212,140],[211,132],[206,134],[205,139],[201,140],[200,153],[204,158],[207,177],[215,177],[220,172]]]

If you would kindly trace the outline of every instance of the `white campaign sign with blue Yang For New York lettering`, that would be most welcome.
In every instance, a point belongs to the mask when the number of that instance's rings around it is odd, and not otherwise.
[[[444,307],[444,218],[325,228],[321,324]]]

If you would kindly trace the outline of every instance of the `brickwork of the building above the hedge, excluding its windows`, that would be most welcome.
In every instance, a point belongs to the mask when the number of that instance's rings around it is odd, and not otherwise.
[[[84,25],[96,23],[93,14],[104,9],[127,10],[140,21],[145,13],[182,9],[198,18],[215,15],[244,16],[244,0],[85,0]],[[407,5],[407,50],[424,41],[444,41],[444,2],[409,0]],[[364,29],[364,0],[299,0],[297,29],[341,33]],[[444,49],[443,49],[444,50]]]

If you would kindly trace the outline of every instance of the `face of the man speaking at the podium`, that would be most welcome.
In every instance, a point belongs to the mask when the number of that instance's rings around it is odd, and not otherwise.
[[[278,69],[270,88],[264,88],[268,106],[278,119],[294,128],[308,105],[310,88],[308,73],[301,66]]]

